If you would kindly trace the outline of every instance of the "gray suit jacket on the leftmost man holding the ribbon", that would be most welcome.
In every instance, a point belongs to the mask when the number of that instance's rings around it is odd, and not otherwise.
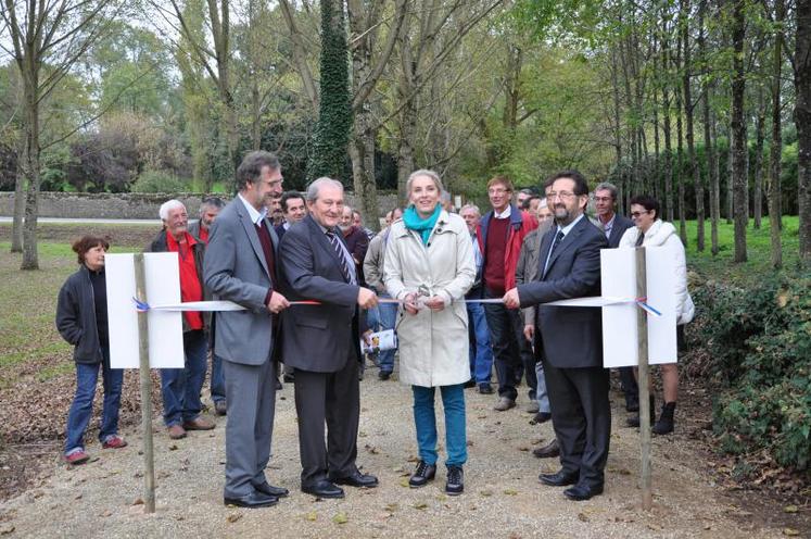
[[[265,226],[278,249],[279,240],[268,220]],[[225,206],[211,227],[203,278],[214,299],[230,300],[246,309],[217,313],[214,352],[233,363],[266,362],[274,337],[265,298],[274,283],[259,236],[239,197]]]

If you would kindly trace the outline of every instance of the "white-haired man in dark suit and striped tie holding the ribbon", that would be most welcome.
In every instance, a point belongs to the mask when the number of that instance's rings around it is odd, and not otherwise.
[[[295,368],[295,410],[302,491],[318,498],[343,498],[337,485],[375,487],[377,477],[358,471],[360,414],[358,306],[378,298],[358,285],[355,262],[338,222],[343,186],[318,178],[307,188],[309,214],[284,233],[279,248],[279,280],[297,305],[282,318],[282,356]],[[328,446],[324,442],[327,423]]]

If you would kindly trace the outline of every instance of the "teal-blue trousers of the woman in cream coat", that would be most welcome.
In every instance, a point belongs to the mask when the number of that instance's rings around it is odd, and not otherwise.
[[[417,427],[419,457],[426,464],[436,464],[436,414],[434,389],[411,386],[414,391],[414,423]],[[465,386],[441,386],[442,408],[445,410],[445,446],[447,466],[461,466],[468,460],[468,442],[465,434]]]

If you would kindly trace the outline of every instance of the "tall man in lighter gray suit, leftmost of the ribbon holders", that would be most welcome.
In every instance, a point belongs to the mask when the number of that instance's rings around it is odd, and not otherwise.
[[[263,507],[288,494],[265,477],[276,400],[274,315],[289,306],[277,291],[278,239],[266,210],[266,202],[281,192],[281,181],[276,155],[245,155],[237,170],[239,195],[220,212],[208,239],[206,287],[216,299],[245,308],[217,313],[214,339],[228,394],[226,505]]]

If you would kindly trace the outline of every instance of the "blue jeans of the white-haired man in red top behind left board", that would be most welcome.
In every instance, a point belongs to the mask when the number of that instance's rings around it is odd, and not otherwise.
[[[161,369],[163,421],[167,427],[193,421],[203,408],[200,391],[205,380],[205,356],[208,342],[205,331],[194,329],[183,334],[185,368]]]

